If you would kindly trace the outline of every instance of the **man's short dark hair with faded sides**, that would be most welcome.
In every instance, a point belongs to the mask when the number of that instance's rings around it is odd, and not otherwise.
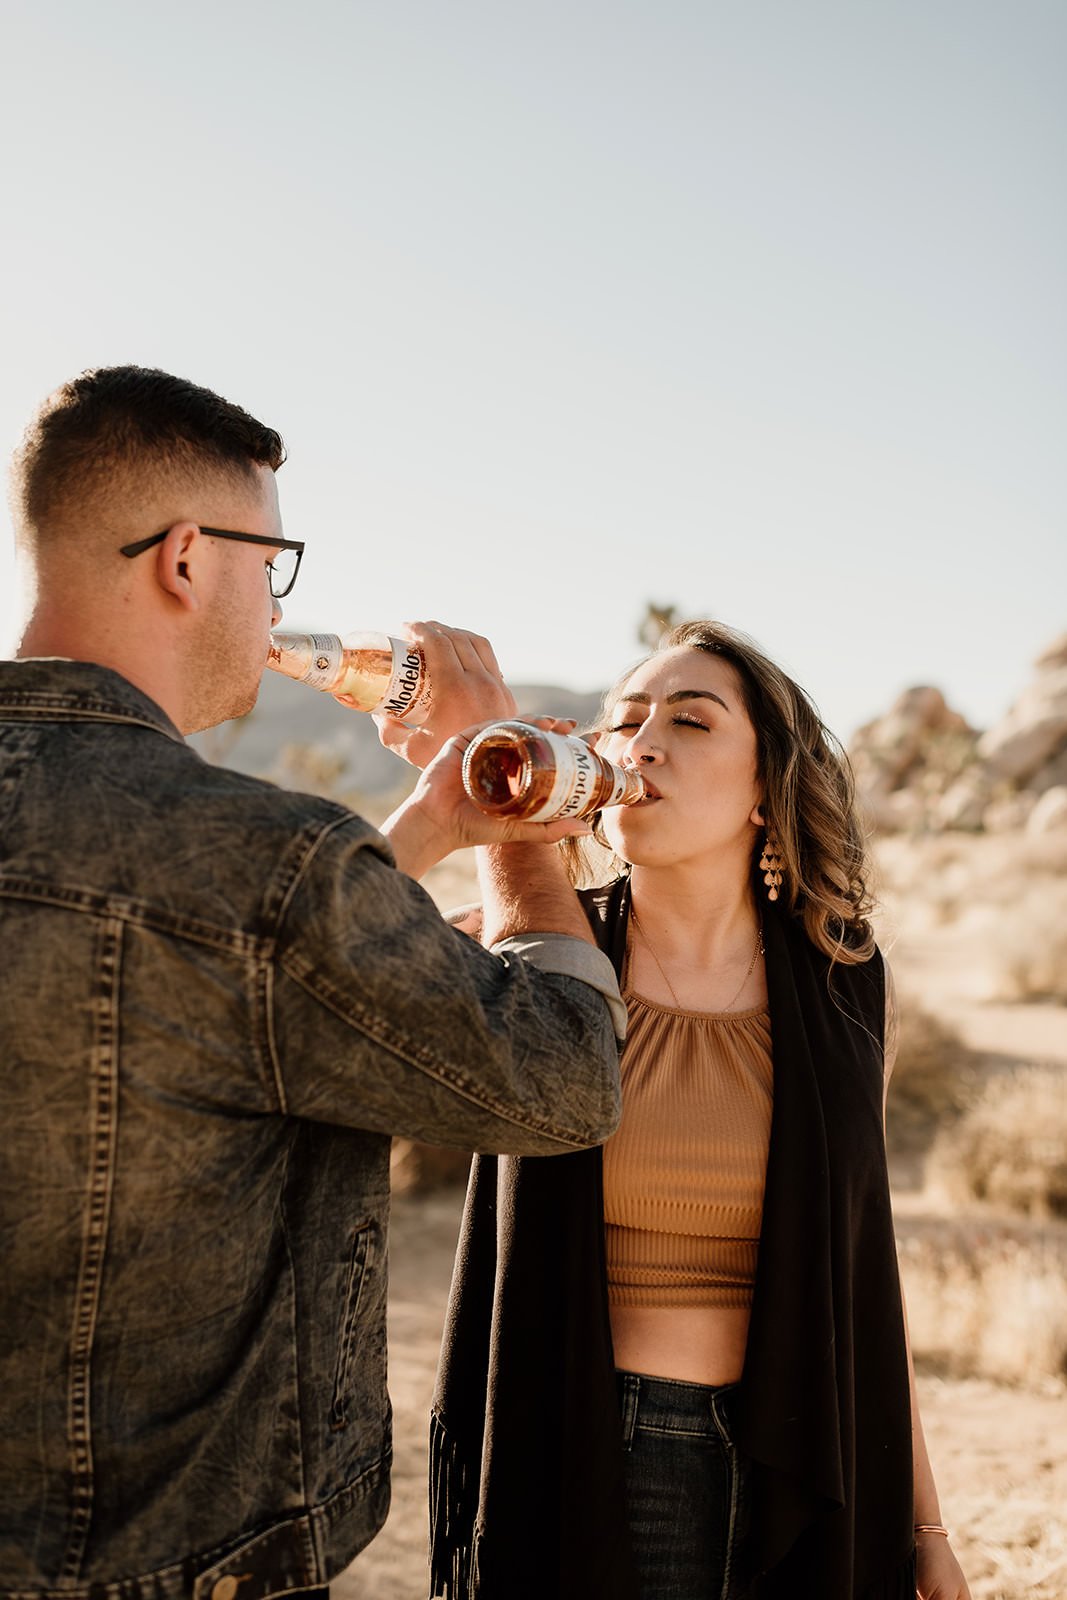
[[[14,509],[40,533],[123,483],[176,472],[240,478],[283,461],[280,435],[232,400],[155,368],[99,366],[50,395],[29,426],[14,458]]]

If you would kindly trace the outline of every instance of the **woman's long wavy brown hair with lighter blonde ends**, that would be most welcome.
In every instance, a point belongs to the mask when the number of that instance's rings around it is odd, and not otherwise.
[[[608,725],[638,666],[678,646],[721,656],[737,674],[757,736],[763,814],[768,832],[779,842],[785,909],[803,922],[811,942],[830,960],[849,965],[869,960],[875,947],[873,902],[851,763],[806,693],[753,640],[723,622],[681,622],[608,690],[593,730]],[[565,854],[574,882],[589,882],[593,874],[582,840],[563,845],[569,846]],[[760,891],[761,853],[760,840],[752,859]]]

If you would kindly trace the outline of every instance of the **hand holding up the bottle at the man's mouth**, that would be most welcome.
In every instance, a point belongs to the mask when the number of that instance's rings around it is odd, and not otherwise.
[[[472,723],[515,715],[515,696],[504,683],[493,645],[445,622],[405,622],[405,637],[422,646],[430,680],[429,717],[418,728],[374,715],[378,738],[411,766],[426,768],[453,734]]]

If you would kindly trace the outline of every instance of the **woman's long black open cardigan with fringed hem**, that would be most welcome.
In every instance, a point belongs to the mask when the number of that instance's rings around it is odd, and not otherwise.
[[[629,878],[584,891],[622,970]],[[885,966],[766,906],[774,1107],[737,1443],[753,1600],[915,1600]],[[638,1600],[600,1150],[475,1157],[430,1421],[432,1595]]]

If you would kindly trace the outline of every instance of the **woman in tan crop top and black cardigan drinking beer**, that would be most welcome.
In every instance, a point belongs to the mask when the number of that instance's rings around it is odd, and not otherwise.
[[[475,1160],[432,1592],[966,1600],[913,1405],[846,757],[713,622],[616,685],[597,747],[648,789],[598,819],[619,870],[582,891],[627,1002],[622,1122]],[[520,872],[506,846],[486,882]]]

